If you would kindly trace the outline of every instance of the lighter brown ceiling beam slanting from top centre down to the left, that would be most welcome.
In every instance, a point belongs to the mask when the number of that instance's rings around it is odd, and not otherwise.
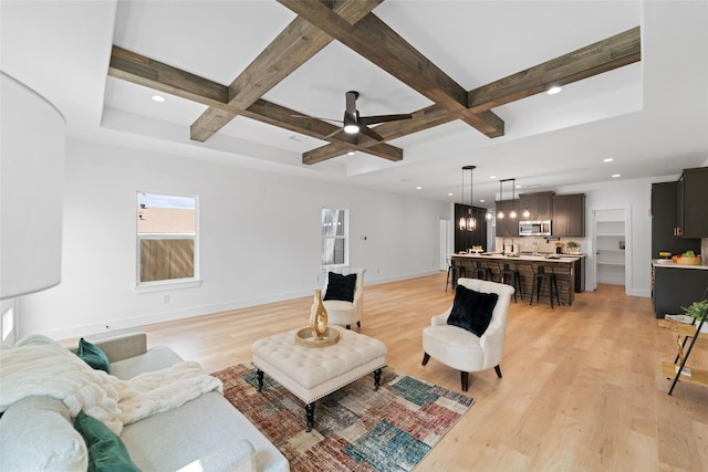
[[[334,11],[347,22],[356,22],[384,0],[342,0]],[[325,45],[332,38],[310,22],[295,18],[248,67],[229,85],[230,105],[248,108],[283,78],[294,72]],[[207,108],[190,127],[194,140],[205,141],[223,125],[236,118],[221,108]]]

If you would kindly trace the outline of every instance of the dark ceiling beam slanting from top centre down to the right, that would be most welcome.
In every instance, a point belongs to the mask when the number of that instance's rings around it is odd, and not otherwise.
[[[350,24],[321,1],[278,1],[487,136],[503,135],[501,118],[491,112],[471,113],[467,91],[375,14],[368,13],[356,24]]]

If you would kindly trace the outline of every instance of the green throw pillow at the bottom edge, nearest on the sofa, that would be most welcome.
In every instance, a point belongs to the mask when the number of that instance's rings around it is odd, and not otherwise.
[[[140,472],[121,438],[101,421],[80,411],[74,428],[86,441],[88,472]]]

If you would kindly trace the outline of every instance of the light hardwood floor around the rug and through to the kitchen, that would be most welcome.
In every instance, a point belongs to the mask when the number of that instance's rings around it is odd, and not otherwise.
[[[650,298],[601,285],[572,307],[512,302],[503,378],[472,374],[470,411],[419,471],[706,471],[708,387],[669,380],[675,335],[657,326]],[[389,368],[460,391],[459,373],[423,367],[421,329],[451,304],[445,273],[365,287],[361,333],[388,347]],[[251,344],[304,327],[312,297],[145,326],[208,371],[251,360]],[[708,350],[708,349],[707,349]],[[704,367],[708,356],[693,357]]]

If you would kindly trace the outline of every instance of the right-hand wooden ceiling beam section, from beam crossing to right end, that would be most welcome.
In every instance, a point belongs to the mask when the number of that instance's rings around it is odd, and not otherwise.
[[[633,28],[469,92],[469,108],[481,113],[642,60],[642,34]]]

